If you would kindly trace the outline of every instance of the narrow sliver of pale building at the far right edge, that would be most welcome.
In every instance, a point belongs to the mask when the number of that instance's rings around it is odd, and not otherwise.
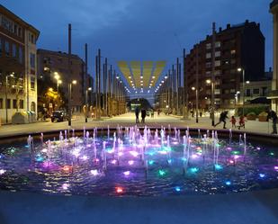
[[[269,99],[272,100],[272,109],[278,112],[278,0],[270,4],[270,12],[274,15],[274,76]]]

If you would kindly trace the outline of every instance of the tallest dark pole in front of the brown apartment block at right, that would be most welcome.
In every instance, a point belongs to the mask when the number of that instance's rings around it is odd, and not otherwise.
[[[215,124],[214,117],[214,107],[215,107],[215,99],[214,99],[214,88],[215,88],[215,22],[212,23],[212,56],[211,56],[211,125]]]

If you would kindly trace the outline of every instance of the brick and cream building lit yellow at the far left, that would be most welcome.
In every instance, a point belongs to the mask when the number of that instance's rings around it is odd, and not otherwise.
[[[37,113],[37,49],[40,31],[0,4],[0,117]]]

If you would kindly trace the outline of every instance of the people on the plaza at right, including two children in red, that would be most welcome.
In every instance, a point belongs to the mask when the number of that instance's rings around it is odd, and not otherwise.
[[[223,129],[227,129],[226,128],[226,119],[229,119],[228,112],[221,112],[220,113],[220,121],[218,123],[216,123],[214,125],[214,127],[216,127],[221,122],[223,122]],[[276,114],[276,112],[274,112],[272,110],[268,110],[267,111],[267,121],[268,120],[273,121],[273,133],[272,134],[277,134],[277,114]],[[240,130],[240,128],[244,128],[244,129],[246,128],[246,121],[245,121],[244,115],[241,115],[239,117],[238,126],[237,126],[237,119],[235,118],[235,116],[231,117],[230,122],[232,124],[232,128],[238,128],[238,130]]]

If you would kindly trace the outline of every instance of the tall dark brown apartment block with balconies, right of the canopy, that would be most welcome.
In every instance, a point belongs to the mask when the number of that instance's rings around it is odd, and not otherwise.
[[[244,22],[227,25],[215,33],[215,83],[214,97],[216,109],[235,107],[235,94],[240,91],[243,81],[258,81],[265,75],[265,37],[260,31],[260,24]],[[196,44],[185,58],[185,76],[187,76],[189,106],[195,108],[195,91],[199,94],[200,110],[207,110],[211,104],[212,72],[212,35]],[[198,62],[198,63],[197,63]],[[198,67],[198,68],[197,68]],[[197,82],[198,77],[198,82]],[[207,81],[208,80],[208,81]],[[193,89],[194,89],[193,88]]]

